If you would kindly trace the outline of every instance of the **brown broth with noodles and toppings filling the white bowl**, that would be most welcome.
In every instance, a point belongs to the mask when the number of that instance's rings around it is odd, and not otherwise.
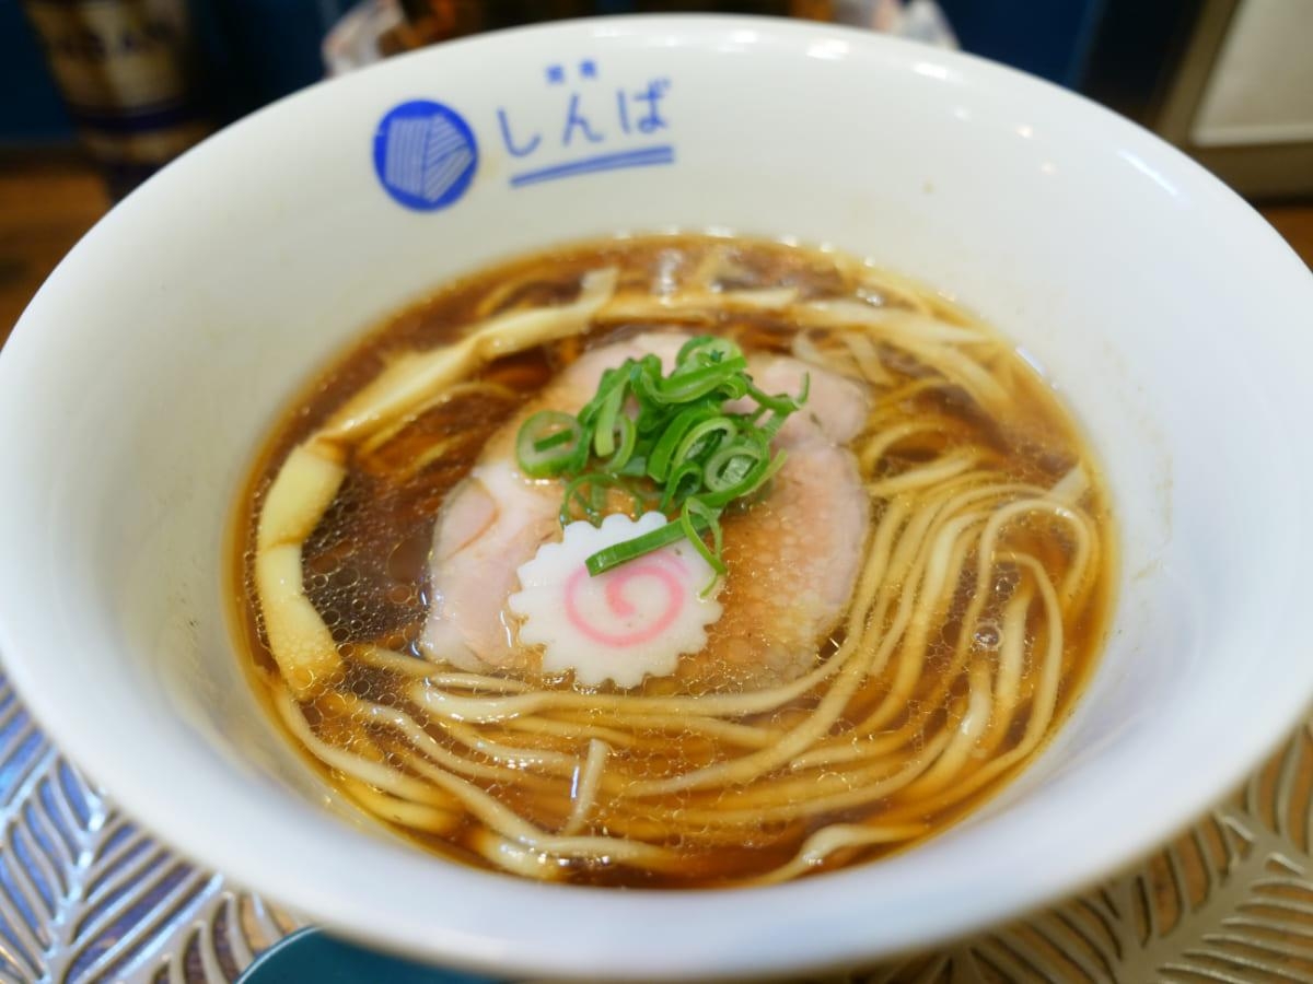
[[[655,438],[604,480],[527,474],[624,374],[617,442],[642,394],[731,363],[751,388],[723,416],[699,398],[678,488]],[[704,480],[713,516],[681,518]],[[1115,580],[1098,467],[1004,338],[752,239],[587,243],[442,287],[288,408],[238,513],[243,648],[326,781],[444,857],[597,886],[775,883],[944,829],[1061,724]],[[645,534],[666,546],[584,571]]]

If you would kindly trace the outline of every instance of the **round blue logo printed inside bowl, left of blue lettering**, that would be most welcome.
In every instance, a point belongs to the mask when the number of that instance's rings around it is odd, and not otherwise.
[[[469,125],[441,102],[402,102],[378,122],[374,172],[407,209],[445,209],[465,194],[478,165]]]

